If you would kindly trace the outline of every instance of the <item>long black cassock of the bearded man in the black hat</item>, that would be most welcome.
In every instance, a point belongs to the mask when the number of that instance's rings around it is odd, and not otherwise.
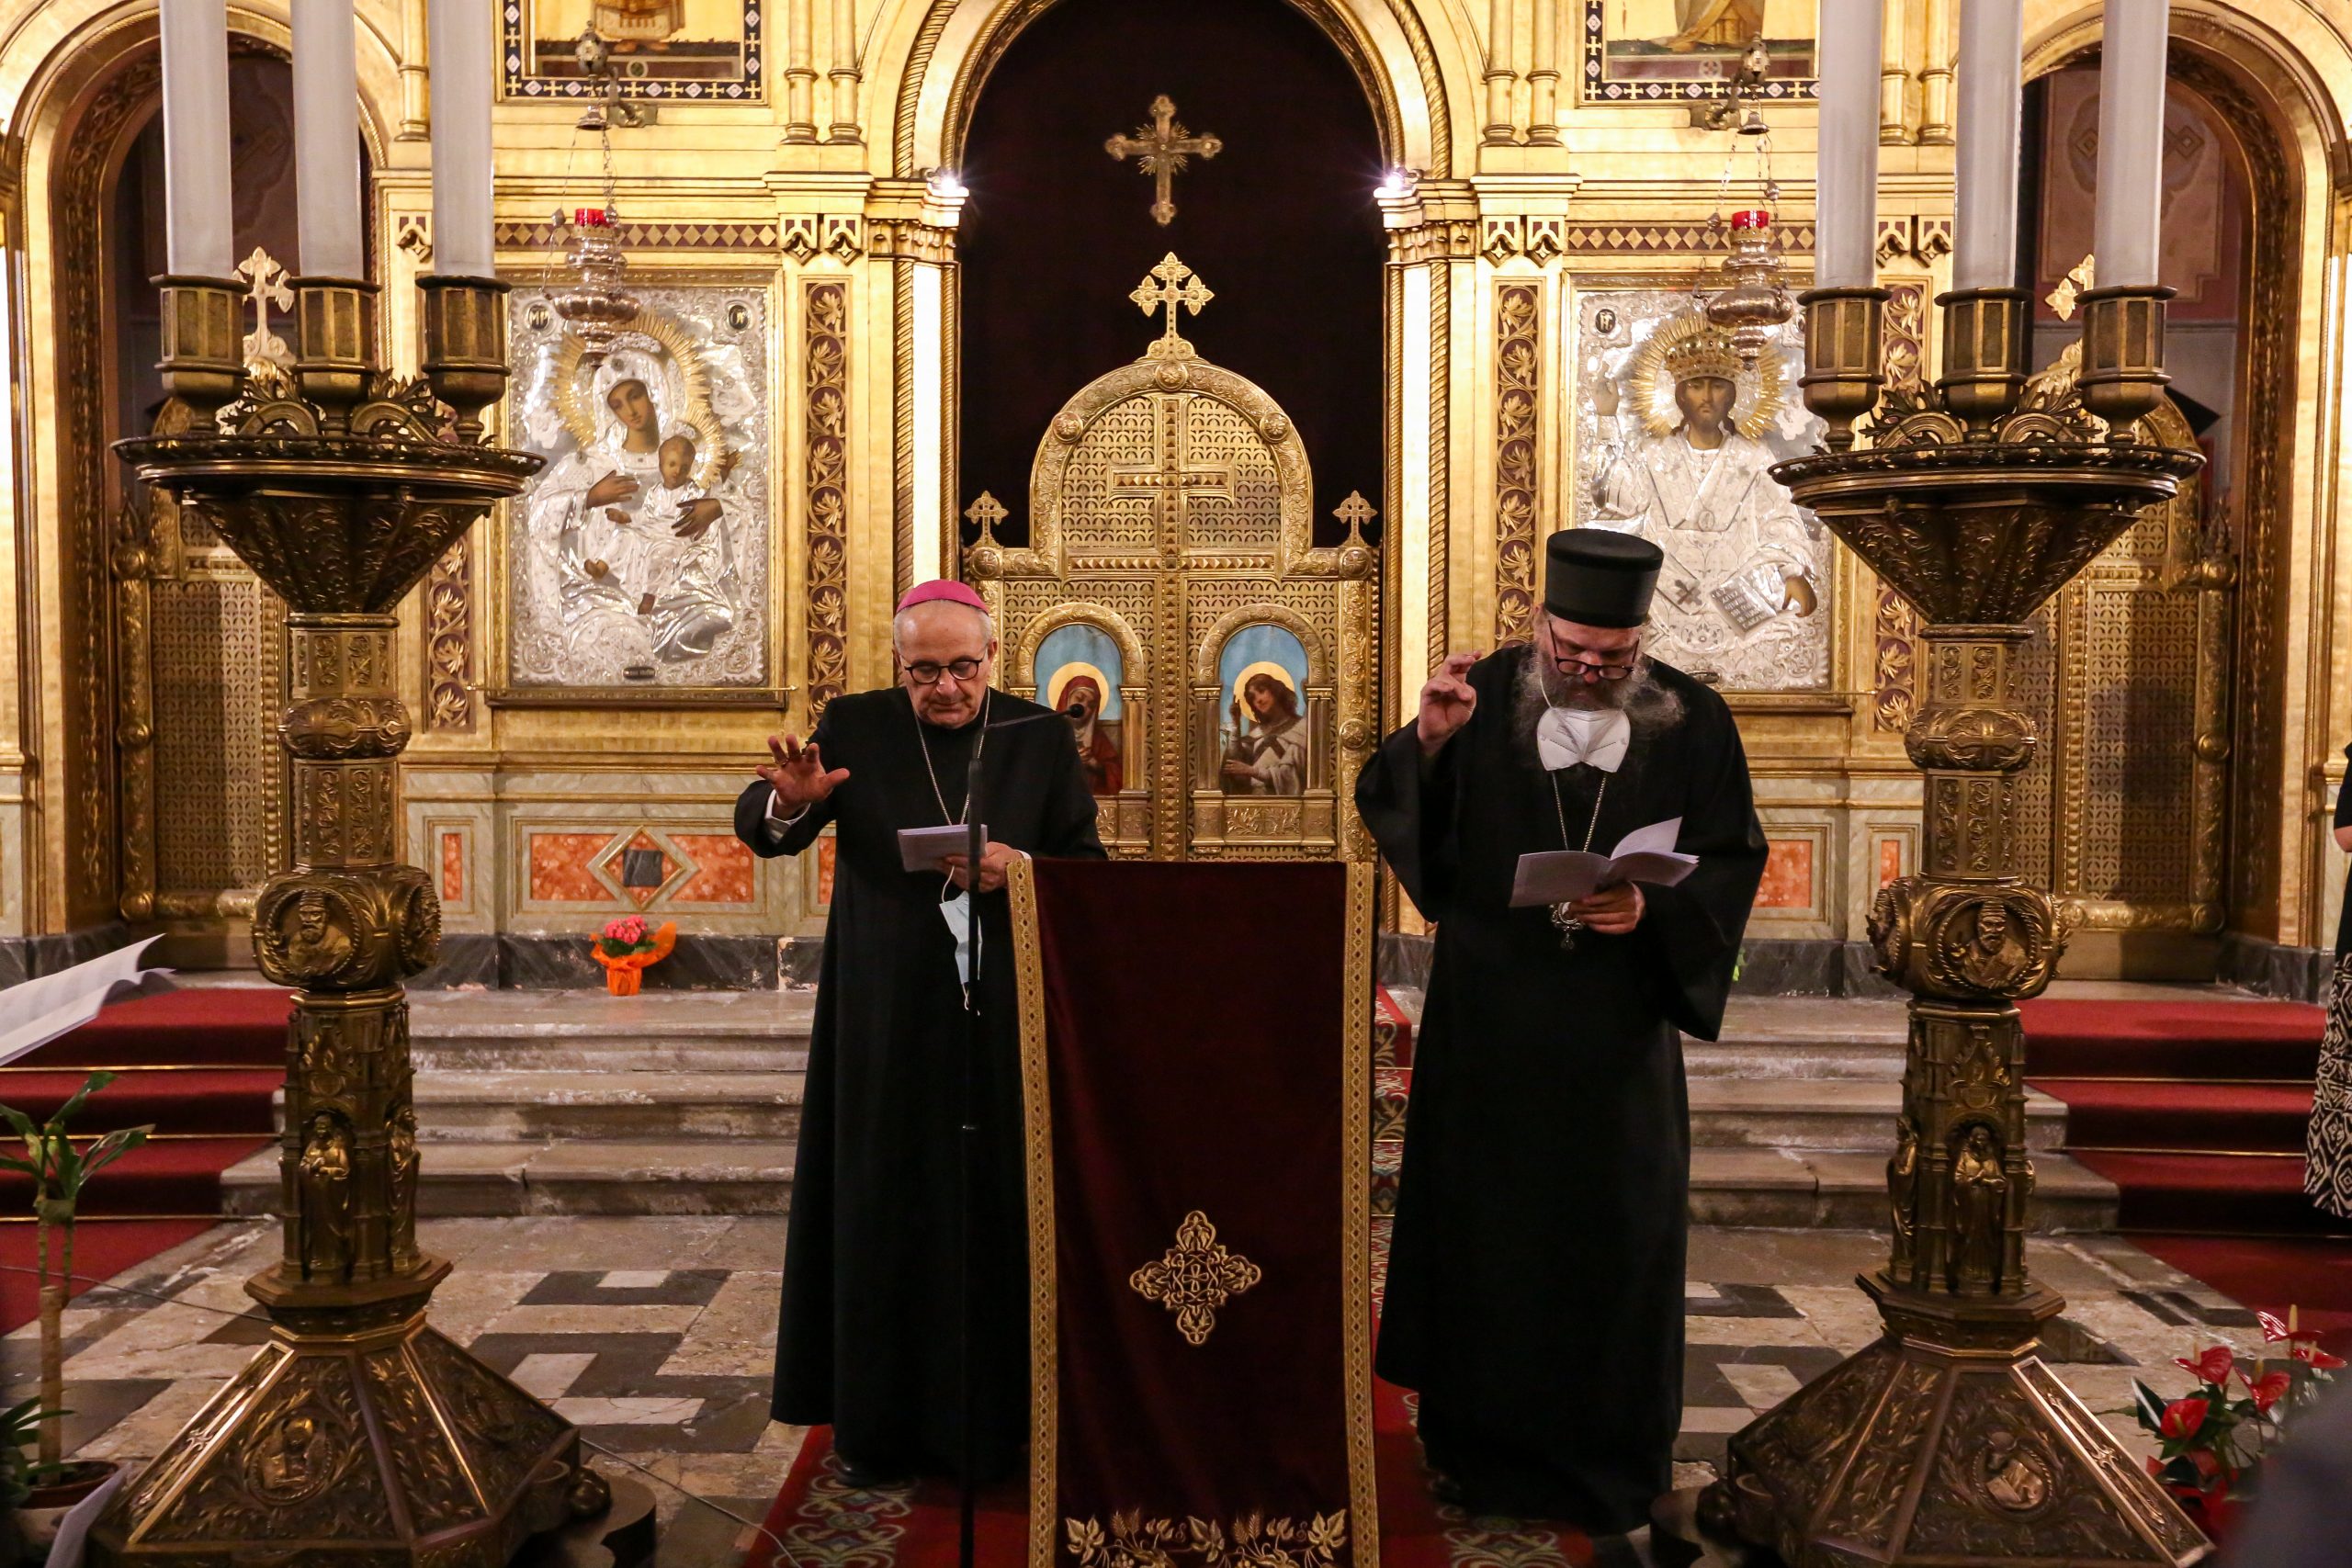
[[[1404,726],[1357,780],[1364,823],[1437,922],[1378,1371],[1421,1389],[1430,1462],[1472,1512],[1618,1533],[1668,1490],[1682,1425],[1677,1030],[1722,1027],[1764,832],[1715,691],[1653,663],[1682,717],[1637,705],[1602,795],[1599,769],[1548,773],[1515,738],[1529,656],[1470,670],[1477,710],[1432,762]],[[1583,849],[1588,823],[1606,853],[1672,816],[1698,870],[1644,884],[1630,936],[1583,931],[1564,952],[1550,910],[1510,907],[1522,853]]]

